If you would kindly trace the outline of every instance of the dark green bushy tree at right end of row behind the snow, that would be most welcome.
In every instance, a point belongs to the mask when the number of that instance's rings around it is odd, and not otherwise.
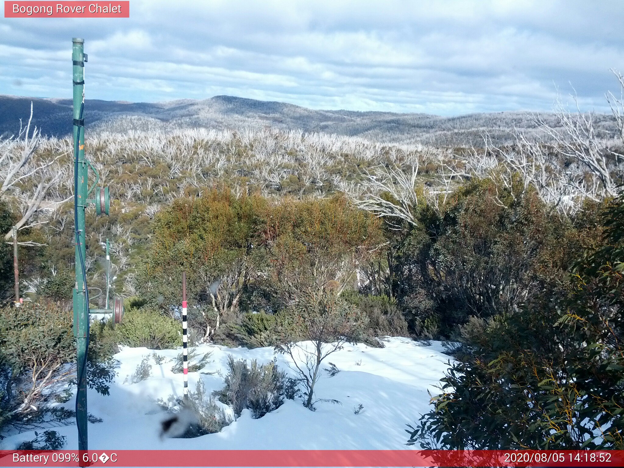
[[[415,215],[419,228],[392,238],[391,283],[411,330],[425,338],[451,336],[469,316],[515,310],[560,280],[593,231],[589,220],[575,227],[551,213],[530,190],[516,199],[490,180]]]

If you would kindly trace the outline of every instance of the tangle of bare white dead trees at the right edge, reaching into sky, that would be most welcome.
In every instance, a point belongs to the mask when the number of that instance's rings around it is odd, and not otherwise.
[[[612,92],[606,97],[615,134],[598,127],[593,112],[582,112],[575,95],[573,112],[557,99],[556,124],[550,118],[534,116],[545,137],[514,128],[514,144],[503,146],[493,144],[485,134],[484,147],[473,149],[465,160],[470,175],[492,178],[514,198],[523,197],[533,187],[545,203],[565,215],[580,210],[586,198],[617,197],[624,182],[624,77],[613,73],[620,84],[620,97]]]

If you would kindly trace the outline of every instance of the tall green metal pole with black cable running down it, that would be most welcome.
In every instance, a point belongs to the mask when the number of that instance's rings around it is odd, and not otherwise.
[[[77,348],[77,394],[76,394],[76,424],[78,426],[78,450],[87,450],[87,340],[89,329],[89,310],[85,291],[83,262],[87,252],[85,250],[84,213],[87,207],[87,165],[84,159],[84,39],[72,39],[72,61],[74,64],[74,157],[78,148],[78,161],[74,161],[76,200],[76,288],[74,288],[74,336]]]

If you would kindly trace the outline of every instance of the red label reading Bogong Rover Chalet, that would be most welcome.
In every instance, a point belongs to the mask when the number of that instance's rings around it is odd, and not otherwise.
[[[129,1],[4,1],[5,18],[129,18]]]

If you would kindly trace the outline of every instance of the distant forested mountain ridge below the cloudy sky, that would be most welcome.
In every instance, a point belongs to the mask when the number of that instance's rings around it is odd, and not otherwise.
[[[33,123],[42,134],[55,137],[72,131],[72,100],[0,95],[0,135],[16,134],[19,119],[26,120],[33,103]],[[551,114],[546,114],[552,119]],[[610,126],[610,116],[600,115]],[[553,124],[555,122],[553,121]],[[499,142],[511,139],[510,129],[535,131],[530,112],[496,112],[440,117],[431,114],[314,110],[284,102],[218,95],[210,99],[168,102],[85,101],[87,131],[127,132],[184,129],[242,129],[271,127],[280,130],[362,137],[378,142],[479,145],[487,132]]]

